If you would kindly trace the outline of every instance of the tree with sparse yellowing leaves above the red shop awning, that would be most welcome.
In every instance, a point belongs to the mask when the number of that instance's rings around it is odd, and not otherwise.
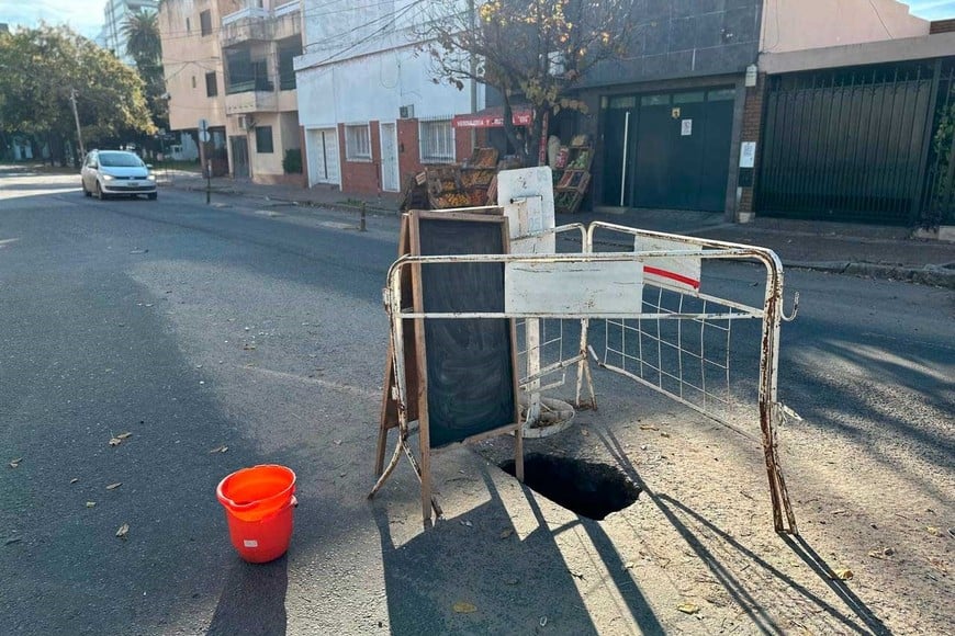
[[[596,65],[625,55],[633,0],[435,0],[418,27],[432,79],[463,89],[473,80],[504,98],[504,128],[524,164],[536,156],[546,116],[584,111],[571,91]],[[530,104],[533,124],[519,139],[515,100]],[[533,161],[536,163],[536,160]]]

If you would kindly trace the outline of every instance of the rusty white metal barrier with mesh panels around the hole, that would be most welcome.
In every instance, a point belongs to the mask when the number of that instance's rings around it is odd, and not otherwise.
[[[620,237],[632,241],[632,251],[595,251],[599,245],[598,232],[610,234],[617,241]],[[701,273],[716,262],[762,264],[765,270],[762,300],[752,303],[708,292]],[[503,310],[428,313],[402,306],[402,280],[409,280],[403,275],[407,268],[460,263],[502,263],[506,297]],[[634,285],[638,280],[639,284]],[[617,294],[621,287],[623,293]],[[749,285],[738,291],[741,296],[746,295],[743,292],[752,294]],[[631,292],[639,296],[628,296]],[[407,386],[406,322],[506,318],[525,321],[518,349],[527,374],[518,384],[527,394],[528,404],[537,398],[540,406],[543,393],[563,384],[565,370],[575,366],[577,405],[582,404],[581,393],[586,388],[589,397],[583,404],[596,406],[589,353],[600,367],[729,427],[740,430],[759,425],[774,527],[796,533],[796,520],[777,456],[776,427],[787,414],[795,413],[777,400],[779,328],[784,319],[783,269],[771,250],[594,223],[581,253],[402,257],[389,271],[385,307],[395,347],[394,399],[402,443],[372,495],[394,469],[402,450],[422,477],[417,459],[404,443],[411,424],[408,400],[418,397],[409,395]],[[563,343],[568,321],[580,325],[576,351],[566,351]],[[749,338],[734,338],[739,322],[757,328]],[[553,327],[557,334],[549,338],[544,330],[540,332],[542,336],[535,336],[536,327],[541,323]],[[551,347],[553,352],[550,352]],[[756,351],[751,360],[755,368],[745,370],[752,382],[744,382],[744,390],[739,391],[734,390],[733,364],[748,361],[748,356],[738,351],[744,348]],[[559,379],[544,382],[547,376],[557,373],[561,374]],[[752,391],[745,388],[750,386]],[[525,419],[532,422],[539,414],[528,410]],[[519,444],[521,435],[517,438]]]

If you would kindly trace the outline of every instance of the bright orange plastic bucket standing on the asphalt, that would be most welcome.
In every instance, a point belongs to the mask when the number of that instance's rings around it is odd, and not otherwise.
[[[285,554],[299,504],[291,468],[263,464],[236,470],[218,482],[215,496],[225,508],[229,538],[240,557],[263,564]]]

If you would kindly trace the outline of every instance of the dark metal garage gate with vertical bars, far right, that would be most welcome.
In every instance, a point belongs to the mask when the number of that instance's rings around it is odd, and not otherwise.
[[[768,80],[761,215],[937,225],[953,208],[955,58]]]

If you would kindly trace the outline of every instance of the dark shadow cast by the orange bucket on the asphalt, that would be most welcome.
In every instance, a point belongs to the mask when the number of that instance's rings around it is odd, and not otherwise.
[[[285,591],[289,557],[268,564],[247,564],[235,557],[207,635],[280,636],[285,633]]]

